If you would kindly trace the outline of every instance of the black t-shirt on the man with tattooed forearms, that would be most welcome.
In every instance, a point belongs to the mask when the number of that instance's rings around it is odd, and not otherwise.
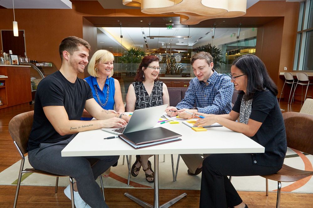
[[[60,71],[44,78],[37,87],[34,105],[34,122],[28,141],[28,151],[39,147],[40,143],[56,143],[71,135],[61,136],[53,128],[44,114],[45,106],[64,106],[69,120],[80,120],[86,100],[92,92],[88,83],[77,78],[69,82]]]

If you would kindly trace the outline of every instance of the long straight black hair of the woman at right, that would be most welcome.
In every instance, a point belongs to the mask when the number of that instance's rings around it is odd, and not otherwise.
[[[246,101],[252,99],[254,93],[260,90],[269,90],[274,95],[278,94],[277,86],[269,77],[264,63],[257,56],[252,54],[243,55],[232,62],[232,65],[235,65],[248,77]]]

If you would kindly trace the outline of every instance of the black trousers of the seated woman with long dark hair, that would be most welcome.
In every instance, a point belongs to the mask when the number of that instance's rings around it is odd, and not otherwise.
[[[227,176],[259,176],[274,174],[279,167],[253,163],[251,154],[212,154],[202,163],[200,207],[227,208],[242,202]],[[253,184],[251,184],[253,185]]]

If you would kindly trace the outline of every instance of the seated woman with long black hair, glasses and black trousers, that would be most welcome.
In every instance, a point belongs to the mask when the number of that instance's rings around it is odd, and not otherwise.
[[[248,207],[227,176],[274,174],[281,169],[286,155],[286,133],[276,98],[277,87],[264,63],[254,55],[244,55],[233,62],[231,72],[235,89],[241,91],[232,111],[224,115],[196,112],[206,118],[199,119],[195,125],[220,123],[258,142],[265,147],[265,152],[208,156],[203,161],[200,207]]]

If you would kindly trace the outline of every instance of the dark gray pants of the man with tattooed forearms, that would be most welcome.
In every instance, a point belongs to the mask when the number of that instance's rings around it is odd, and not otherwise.
[[[79,195],[89,206],[92,208],[107,207],[95,180],[116,163],[119,156],[62,157],[61,151],[74,136],[57,143],[41,143],[39,148],[28,152],[29,163],[38,170],[72,176],[77,181]],[[100,160],[91,167],[87,160],[90,158]]]

